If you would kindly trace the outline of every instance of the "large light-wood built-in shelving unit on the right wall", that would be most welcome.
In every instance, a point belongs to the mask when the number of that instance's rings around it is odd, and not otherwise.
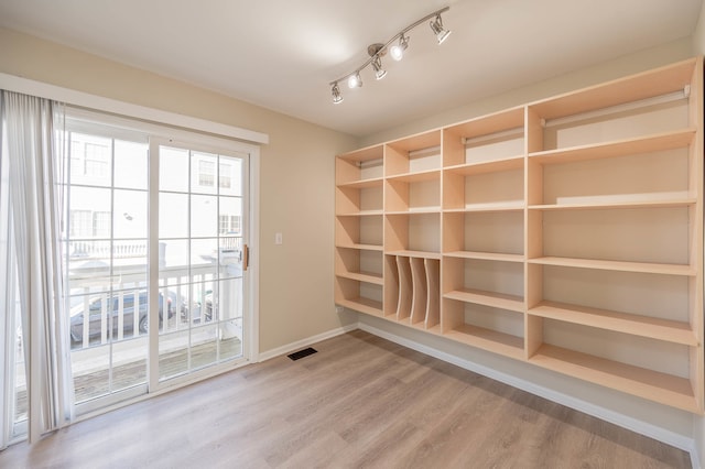
[[[337,304],[704,411],[699,58],[336,159]]]

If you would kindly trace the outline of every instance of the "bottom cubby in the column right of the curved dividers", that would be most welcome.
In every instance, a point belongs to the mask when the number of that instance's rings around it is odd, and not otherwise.
[[[523,359],[523,314],[482,304],[443,298],[443,335],[503,356]]]

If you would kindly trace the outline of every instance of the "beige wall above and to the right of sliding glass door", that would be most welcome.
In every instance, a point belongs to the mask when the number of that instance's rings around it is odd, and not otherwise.
[[[322,334],[334,313],[333,155],[350,135],[36,37],[0,29],[0,72],[270,137],[261,148],[260,351]],[[274,246],[274,233],[284,243]]]

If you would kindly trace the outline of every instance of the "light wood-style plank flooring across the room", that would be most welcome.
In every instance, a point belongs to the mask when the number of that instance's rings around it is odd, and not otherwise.
[[[680,449],[356,330],[77,423],[2,468],[690,468]]]

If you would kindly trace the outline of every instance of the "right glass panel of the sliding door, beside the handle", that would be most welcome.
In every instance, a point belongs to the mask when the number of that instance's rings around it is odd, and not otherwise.
[[[159,283],[180,304],[159,331],[166,381],[242,357],[247,156],[177,145],[158,153]]]

